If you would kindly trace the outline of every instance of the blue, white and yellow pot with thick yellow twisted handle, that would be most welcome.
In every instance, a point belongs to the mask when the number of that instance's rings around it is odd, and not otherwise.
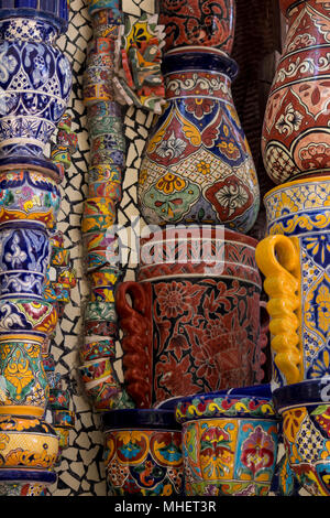
[[[256,261],[270,296],[273,382],[328,376],[330,176],[285,183],[264,203],[268,236]]]

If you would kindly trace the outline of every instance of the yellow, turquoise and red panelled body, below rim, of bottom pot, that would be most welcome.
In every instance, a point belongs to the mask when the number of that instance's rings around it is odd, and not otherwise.
[[[277,425],[254,419],[184,424],[186,495],[266,495],[277,454]]]

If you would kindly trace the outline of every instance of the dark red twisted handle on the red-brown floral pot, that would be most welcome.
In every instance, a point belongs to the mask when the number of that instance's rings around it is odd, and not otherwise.
[[[131,296],[132,304],[128,302]],[[122,365],[129,395],[138,408],[152,404],[152,321],[151,306],[145,287],[139,282],[122,282],[116,293],[116,309],[123,331],[121,346]],[[151,311],[150,311],[151,314]]]

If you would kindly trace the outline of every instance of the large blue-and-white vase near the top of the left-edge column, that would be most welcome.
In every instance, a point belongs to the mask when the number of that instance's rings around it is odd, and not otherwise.
[[[1,153],[41,154],[69,99],[69,62],[32,39],[2,40],[0,55]]]

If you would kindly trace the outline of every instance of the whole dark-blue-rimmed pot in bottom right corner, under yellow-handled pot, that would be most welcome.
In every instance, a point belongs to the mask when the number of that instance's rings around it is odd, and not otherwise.
[[[273,392],[283,419],[290,470],[314,496],[330,495],[330,377],[280,387]]]

